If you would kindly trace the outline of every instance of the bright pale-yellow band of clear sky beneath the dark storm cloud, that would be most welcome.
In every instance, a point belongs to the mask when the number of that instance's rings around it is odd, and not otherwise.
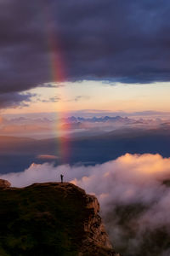
[[[169,83],[107,84],[105,81],[68,82],[59,88],[38,87],[26,93],[31,102],[20,108],[6,108],[3,113],[56,112],[169,112]]]

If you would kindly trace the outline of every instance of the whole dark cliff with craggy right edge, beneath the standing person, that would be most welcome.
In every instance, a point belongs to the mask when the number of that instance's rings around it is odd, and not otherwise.
[[[118,256],[94,195],[71,183],[0,191],[0,255]],[[8,184],[8,186],[7,186]]]

